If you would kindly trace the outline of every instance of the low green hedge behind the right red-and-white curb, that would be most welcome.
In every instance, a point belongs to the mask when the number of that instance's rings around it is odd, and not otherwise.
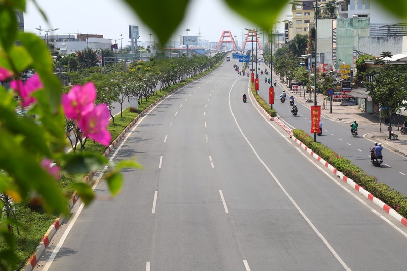
[[[351,178],[355,183],[395,209],[403,217],[407,216],[406,196],[389,187],[387,184],[379,182],[376,177],[368,175],[360,167],[351,164],[349,159],[337,154],[321,142],[314,142],[314,139],[303,130],[294,129],[293,135],[312,149],[314,153],[341,171],[346,177]]]

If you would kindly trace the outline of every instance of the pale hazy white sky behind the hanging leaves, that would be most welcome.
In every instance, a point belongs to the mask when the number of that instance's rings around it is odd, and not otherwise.
[[[35,28],[41,25],[42,29],[59,28],[58,31],[50,32],[48,35],[102,34],[104,38],[119,39],[120,34],[123,34],[123,46],[130,44],[129,25],[139,26],[141,41],[149,41],[149,34],[153,33],[120,0],[37,0],[37,3],[47,15],[49,24],[41,17],[32,1],[28,0],[27,11],[24,14],[26,32],[39,34]],[[151,8],[154,9],[154,5]],[[280,14],[279,20],[284,20],[286,14],[290,14],[288,4],[287,9]],[[283,24],[278,25],[277,29],[281,30],[282,26]],[[231,11],[223,0],[190,0],[186,17],[173,33],[172,39],[179,40],[179,35],[186,36],[185,29],[189,28],[190,36],[199,36],[200,32],[203,40],[219,41],[222,31],[230,30],[232,35],[237,36],[238,44],[241,44],[242,29],[254,27],[255,25]],[[247,31],[244,31],[244,35],[246,33]],[[154,39],[154,33],[152,38]]]

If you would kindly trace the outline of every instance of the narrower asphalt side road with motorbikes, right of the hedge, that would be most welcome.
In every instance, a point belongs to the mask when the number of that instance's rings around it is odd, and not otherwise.
[[[261,65],[264,70],[265,66]],[[261,79],[261,78],[260,78]],[[268,101],[269,85],[260,81],[259,93]],[[298,115],[294,117],[291,114],[291,106],[289,105],[289,92],[287,93],[287,102],[280,102],[280,93],[282,88],[280,84],[275,87],[275,104],[273,108],[277,110],[279,117],[284,119],[292,128],[301,129],[310,134],[311,130],[311,113],[310,110],[301,103],[296,102],[298,107]],[[364,134],[377,131],[377,126],[359,124],[358,136],[352,137],[349,123],[333,121],[322,117],[323,134],[317,136],[317,140],[328,146],[338,154],[350,159],[353,164],[362,168],[367,174],[376,176],[380,182],[388,184],[390,187],[407,195],[407,169],[405,163],[407,158],[399,154],[395,154],[390,150],[383,150],[383,164],[381,167],[375,167],[370,162],[370,149],[373,143],[370,140],[363,138]],[[352,122],[349,119],[348,122]],[[313,137],[313,134],[310,134]]]

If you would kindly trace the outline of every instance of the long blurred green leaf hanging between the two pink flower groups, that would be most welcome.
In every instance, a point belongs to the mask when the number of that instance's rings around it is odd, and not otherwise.
[[[53,73],[52,57],[43,40],[32,33],[22,33],[18,39],[27,49],[33,59],[33,68],[38,72],[44,84],[44,90],[48,98],[48,106],[52,113],[57,113],[61,105],[61,82]]]

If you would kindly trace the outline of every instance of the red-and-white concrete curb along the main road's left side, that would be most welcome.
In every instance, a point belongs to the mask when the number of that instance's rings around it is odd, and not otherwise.
[[[212,71],[211,71],[212,72]],[[209,72],[208,74],[210,74]],[[208,75],[206,74],[206,75]],[[206,76],[205,75],[205,76]],[[197,78],[196,80],[200,79],[202,77]],[[161,98],[159,98],[157,101],[149,105],[146,109],[144,109],[138,116],[123,130],[123,132],[106,148],[105,152],[103,155],[105,157],[108,157],[109,154],[113,151],[114,147],[118,145],[119,141],[122,140],[122,138],[126,135],[126,133],[134,126],[134,124],[144,115],[146,114],[151,108],[153,108],[158,102],[162,101],[165,99],[167,96],[177,92],[179,89],[195,82],[196,80],[193,80],[191,82],[188,82],[182,86],[179,86],[175,89],[173,89],[171,92],[166,93],[163,95]],[[95,172],[90,172],[88,175],[84,177],[84,181],[86,183],[89,183],[92,177],[95,175]],[[78,200],[79,196],[74,192],[71,196],[71,201],[69,204],[69,210],[72,209],[72,207],[75,205],[76,201]],[[52,237],[55,235],[56,231],[59,230],[62,222],[65,220],[65,216],[60,216],[55,220],[54,223],[49,227],[47,232],[44,234],[44,237],[42,237],[40,244],[36,247],[35,252],[31,257],[28,259],[28,261],[25,263],[24,267],[21,270],[24,271],[31,271],[34,269],[35,265],[37,264],[38,260],[40,259],[42,253],[45,251],[45,249],[48,247],[49,243],[51,242]]]

